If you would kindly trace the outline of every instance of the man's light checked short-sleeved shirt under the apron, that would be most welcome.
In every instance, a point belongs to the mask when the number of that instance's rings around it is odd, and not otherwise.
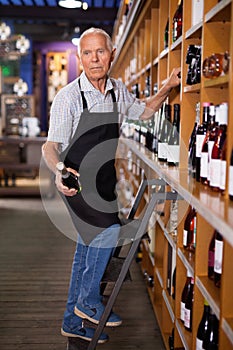
[[[59,90],[55,96],[49,120],[48,141],[60,144],[60,151],[66,149],[78,127],[81,113],[83,112],[82,98],[78,79]],[[119,111],[119,121],[124,116],[138,120],[145,110],[145,103],[136,99],[126,86],[119,80],[108,78],[105,94],[87,79],[85,73],[80,75],[81,90],[84,91],[87,107],[92,112],[112,112],[113,102],[110,90],[113,88]]]

